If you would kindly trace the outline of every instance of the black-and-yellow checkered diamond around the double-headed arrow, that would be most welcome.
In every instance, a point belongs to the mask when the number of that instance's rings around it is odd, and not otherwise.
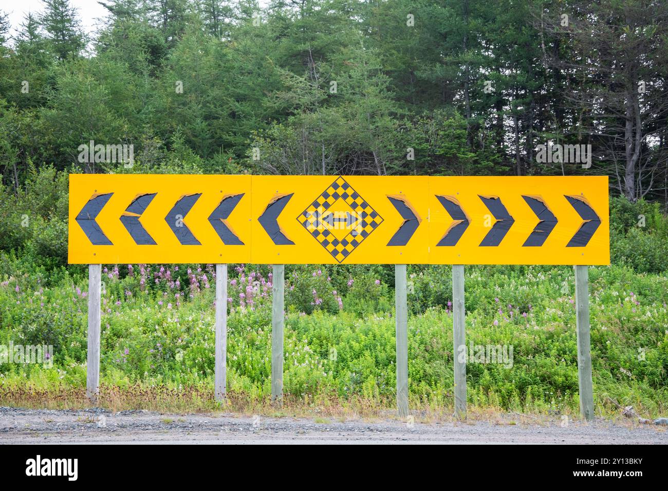
[[[329,230],[330,226],[323,218],[327,216],[327,212],[345,214],[347,206],[343,205],[343,202],[347,203],[356,216],[354,221],[350,220],[348,233],[339,240]],[[341,176],[297,216],[297,220],[339,263],[383,222],[383,218]]]

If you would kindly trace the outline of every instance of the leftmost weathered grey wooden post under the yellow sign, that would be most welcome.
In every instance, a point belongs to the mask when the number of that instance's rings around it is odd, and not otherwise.
[[[102,265],[88,265],[88,354],[86,397],[98,403],[100,392],[100,281]]]

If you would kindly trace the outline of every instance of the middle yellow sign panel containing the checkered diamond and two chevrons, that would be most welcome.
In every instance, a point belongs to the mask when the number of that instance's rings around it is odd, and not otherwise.
[[[428,180],[253,176],[251,262],[429,263]]]

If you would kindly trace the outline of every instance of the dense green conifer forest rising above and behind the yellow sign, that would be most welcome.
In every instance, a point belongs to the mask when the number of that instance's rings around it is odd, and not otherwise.
[[[31,172],[607,174],[668,203],[665,0],[67,0],[0,11],[0,161]],[[79,146],[132,145],[132,168]],[[591,167],[541,162],[591,145]]]

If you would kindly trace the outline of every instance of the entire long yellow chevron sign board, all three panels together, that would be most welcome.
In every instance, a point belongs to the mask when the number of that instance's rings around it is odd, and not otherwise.
[[[610,263],[607,176],[72,174],[70,263]]]

